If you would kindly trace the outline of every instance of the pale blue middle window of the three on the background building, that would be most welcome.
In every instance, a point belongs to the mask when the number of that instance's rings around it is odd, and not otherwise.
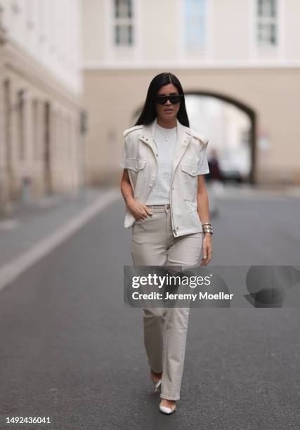
[[[205,44],[206,0],[183,0],[185,15],[185,44],[197,48]]]

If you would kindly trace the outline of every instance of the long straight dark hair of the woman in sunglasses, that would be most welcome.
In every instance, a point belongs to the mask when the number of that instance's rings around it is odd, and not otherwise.
[[[134,124],[135,126],[142,124],[150,124],[150,122],[152,122],[157,117],[157,112],[155,110],[155,98],[160,87],[167,84],[173,84],[178,89],[179,94],[183,94],[183,97],[181,98],[180,102],[180,107],[177,113],[177,119],[179,122],[181,122],[181,124],[187,127],[190,126],[190,122],[188,120],[188,113],[186,112],[185,108],[183,88],[175,74],[170,72],[159,73],[150,82],[143,110],[141,112],[141,115],[138,117],[136,124]]]

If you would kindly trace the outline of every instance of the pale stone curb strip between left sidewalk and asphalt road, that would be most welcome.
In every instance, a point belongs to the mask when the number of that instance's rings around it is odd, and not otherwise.
[[[27,252],[23,252],[11,263],[7,263],[0,268],[0,291],[6,285],[18,278],[22,272],[30,268],[34,263],[44,258],[49,252],[53,251],[58,245],[72,236],[79,228],[89,222],[98,212],[107,207],[108,204],[114,202],[120,197],[120,191],[116,188],[107,191],[103,196],[99,197],[96,202],[90,204],[81,214],[74,216],[73,219],[67,221],[64,226],[58,228],[54,233],[44,237],[37,245],[34,245]]]

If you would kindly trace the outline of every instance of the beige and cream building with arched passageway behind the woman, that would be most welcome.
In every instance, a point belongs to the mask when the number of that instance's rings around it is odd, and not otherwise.
[[[297,0],[84,1],[89,182],[119,181],[122,130],[170,71],[249,115],[249,181],[300,183],[299,16]]]

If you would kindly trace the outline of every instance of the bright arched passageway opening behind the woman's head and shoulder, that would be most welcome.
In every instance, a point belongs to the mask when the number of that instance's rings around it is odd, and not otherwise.
[[[185,91],[190,126],[209,138],[224,178],[255,183],[256,113],[240,100],[212,91]],[[136,122],[141,107],[136,110]]]

